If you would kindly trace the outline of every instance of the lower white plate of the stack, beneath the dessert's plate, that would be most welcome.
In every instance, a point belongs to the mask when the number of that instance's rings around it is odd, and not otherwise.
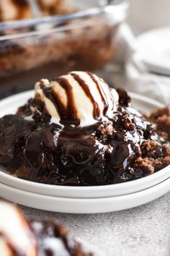
[[[58,213],[108,213],[151,202],[170,191],[170,178],[149,189],[130,195],[105,198],[52,197],[15,189],[0,183],[4,199],[41,210]]]

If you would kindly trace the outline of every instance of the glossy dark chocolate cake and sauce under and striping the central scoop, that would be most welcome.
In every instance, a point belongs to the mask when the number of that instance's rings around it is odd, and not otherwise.
[[[85,87],[84,81],[72,75]],[[68,81],[59,82],[71,99]],[[59,100],[56,108],[64,126],[50,123],[45,111],[27,121],[30,106],[37,104],[30,100],[19,108],[17,115],[0,119],[0,163],[22,179],[73,186],[127,182],[164,168],[169,164],[164,161],[169,155],[169,142],[158,134],[156,124],[130,106],[125,90],[119,89],[117,93],[119,105],[112,118],[89,127],[79,127],[76,122],[74,126],[68,125]],[[55,101],[50,88],[45,88],[45,95]],[[107,108],[104,94],[102,97]],[[70,104],[72,108],[73,102]],[[95,111],[94,104],[97,117]],[[66,115],[73,117],[73,112]],[[157,158],[158,165],[153,163]]]

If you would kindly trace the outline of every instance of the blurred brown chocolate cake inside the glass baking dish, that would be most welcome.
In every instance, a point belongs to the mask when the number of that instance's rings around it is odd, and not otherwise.
[[[84,20],[68,22],[62,32],[50,25],[48,30],[43,26],[35,27],[35,32],[28,34],[27,37],[16,36],[16,38],[12,37],[12,40],[1,40],[1,81],[6,84],[10,74],[10,81],[17,81],[15,83],[18,85],[17,77],[25,76],[26,73],[27,77],[30,77],[34,69],[38,75],[43,74],[42,67],[44,72],[48,69],[48,76],[53,69],[55,73],[57,70],[58,74],[72,69],[101,69],[115,54],[113,38],[117,26],[99,24],[98,20],[98,18],[90,18],[86,21],[86,27]],[[77,24],[82,28],[76,29]],[[36,35],[36,31],[42,35]],[[1,38],[3,37],[5,38],[5,35]],[[22,87],[25,88],[25,85]]]

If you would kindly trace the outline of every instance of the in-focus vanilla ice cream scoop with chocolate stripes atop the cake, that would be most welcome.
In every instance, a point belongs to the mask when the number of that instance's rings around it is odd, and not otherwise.
[[[112,118],[119,96],[115,89],[90,72],[69,72],[52,82],[40,80],[35,84],[35,100],[57,124],[86,127],[100,120]],[[34,108],[33,111],[42,110]]]

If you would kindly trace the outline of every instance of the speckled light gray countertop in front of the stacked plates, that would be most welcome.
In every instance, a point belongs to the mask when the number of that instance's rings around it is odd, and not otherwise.
[[[170,256],[170,193],[138,208],[91,215],[21,207],[27,218],[58,219],[107,256]]]

